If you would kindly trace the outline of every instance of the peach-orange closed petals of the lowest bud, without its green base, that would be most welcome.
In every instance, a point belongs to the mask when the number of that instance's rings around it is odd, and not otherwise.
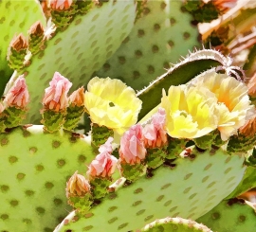
[[[85,177],[76,171],[66,183],[66,197],[84,196],[87,192],[90,192],[90,188],[90,184]]]

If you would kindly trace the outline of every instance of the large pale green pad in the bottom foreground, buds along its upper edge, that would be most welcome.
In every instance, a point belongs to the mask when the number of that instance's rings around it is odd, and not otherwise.
[[[197,152],[191,158],[176,159],[176,167],[161,166],[151,178],[140,177],[131,185],[116,182],[116,191],[105,196],[86,218],[74,222],[75,212],[67,216],[54,232],[130,231],[167,215],[192,220],[219,204],[243,177],[244,158],[229,156],[222,150]]]

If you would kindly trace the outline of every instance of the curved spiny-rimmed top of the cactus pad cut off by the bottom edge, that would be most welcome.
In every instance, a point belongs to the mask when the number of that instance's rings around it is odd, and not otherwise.
[[[165,218],[149,223],[137,232],[212,232],[210,228],[201,223],[182,218]]]

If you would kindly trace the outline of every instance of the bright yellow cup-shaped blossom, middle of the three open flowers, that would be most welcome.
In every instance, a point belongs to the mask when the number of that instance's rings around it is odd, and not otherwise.
[[[217,128],[216,99],[203,87],[171,86],[163,90],[160,106],[166,111],[167,133],[176,138],[196,138]]]

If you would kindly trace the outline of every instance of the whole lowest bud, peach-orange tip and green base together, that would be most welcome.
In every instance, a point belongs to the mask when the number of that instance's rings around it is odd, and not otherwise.
[[[67,203],[75,207],[81,214],[86,214],[93,203],[90,189],[89,182],[76,171],[66,183]]]

